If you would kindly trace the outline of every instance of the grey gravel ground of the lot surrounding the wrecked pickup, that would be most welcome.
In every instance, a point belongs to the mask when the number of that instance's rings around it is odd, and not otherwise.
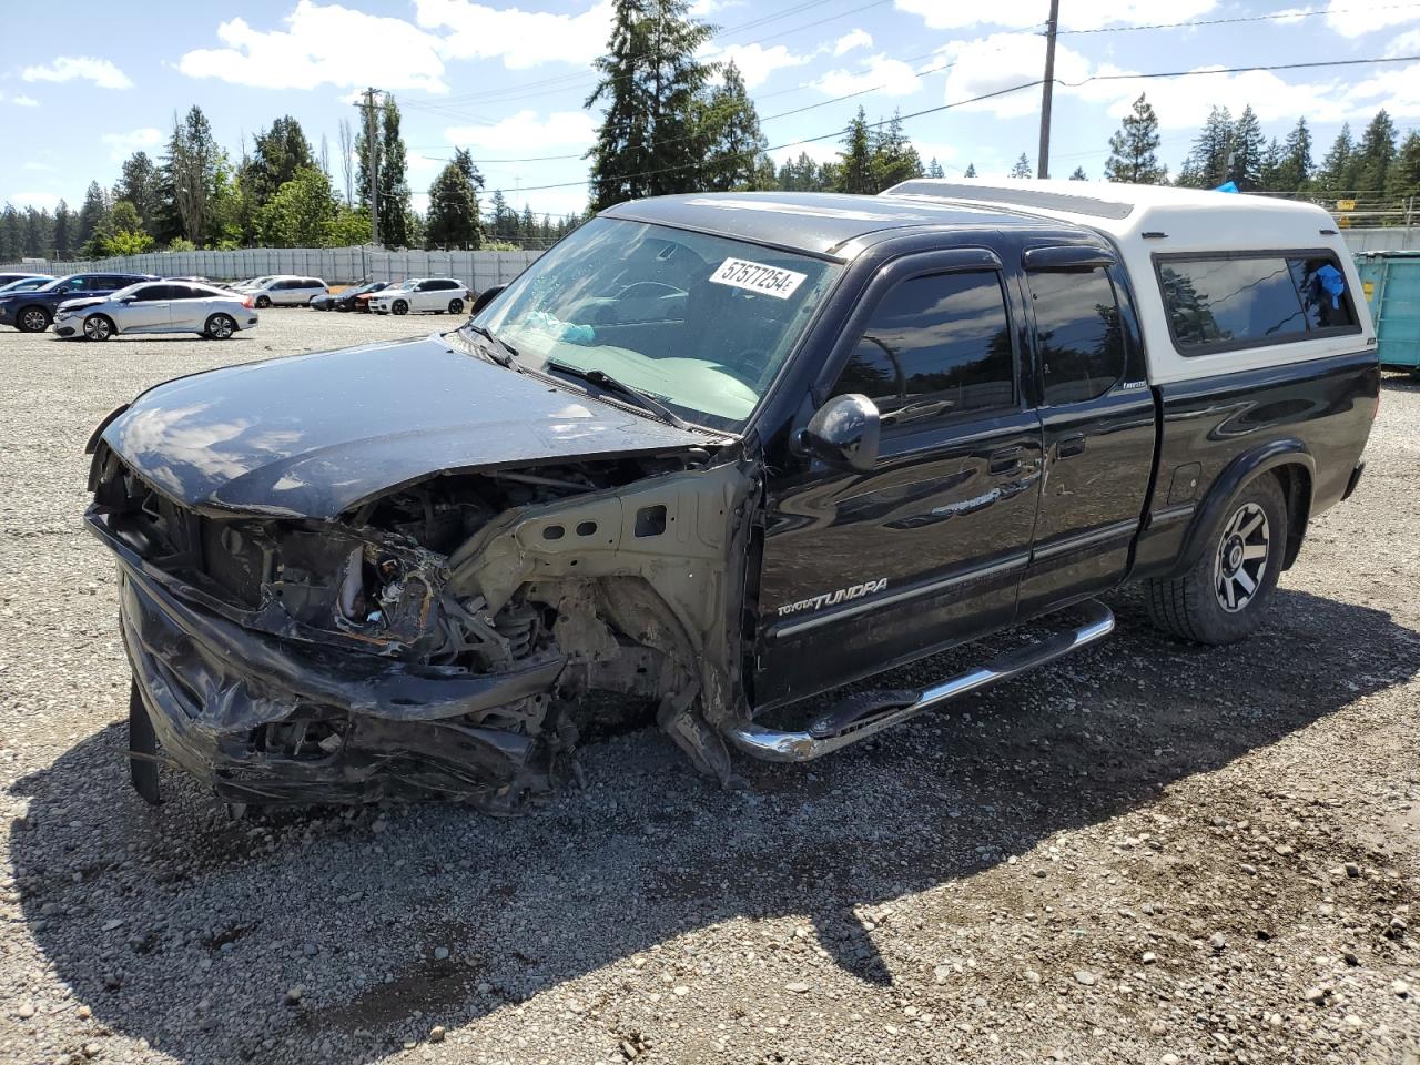
[[[1125,592],[1100,648],[740,792],[648,730],[507,821],[231,822],[173,774],[146,808],[89,429],[179,373],[446,325],[0,332],[0,1061],[1420,1062],[1403,378],[1242,646]]]

